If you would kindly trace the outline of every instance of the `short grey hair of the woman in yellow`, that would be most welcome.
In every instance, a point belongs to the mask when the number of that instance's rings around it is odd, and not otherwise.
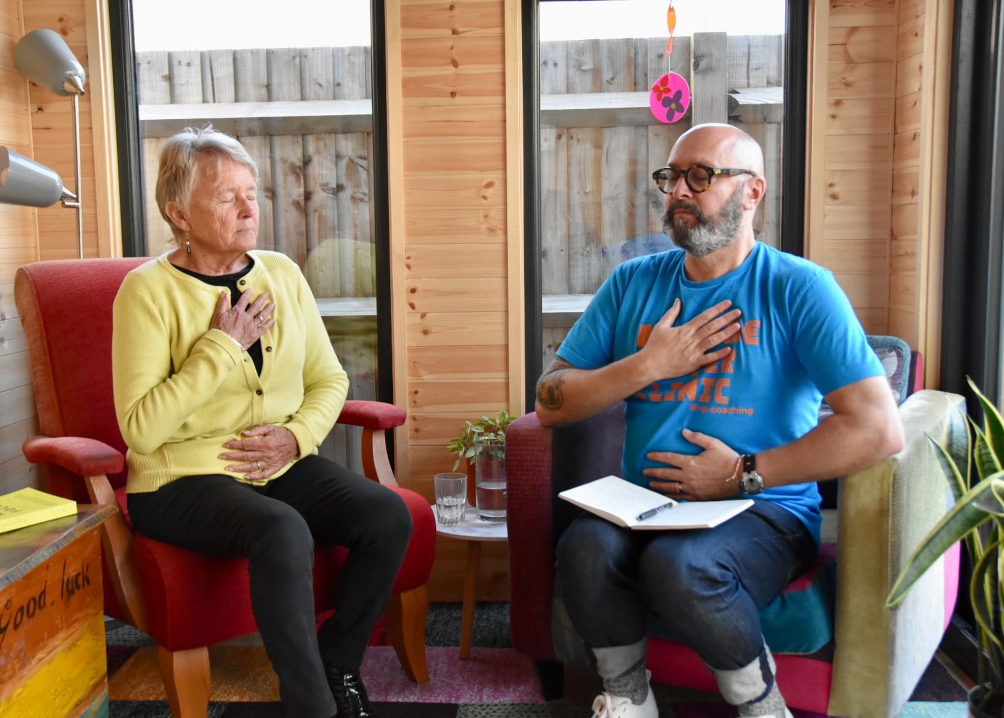
[[[204,128],[185,128],[177,135],[172,135],[161,149],[161,164],[157,173],[157,207],[161,210],[164,221],[171,226],[175,237],[180,237],[182,230],[171,221],[165,212],[169,202],[174,202],[182,209],[188,209],[192,199],[192,190],[199,178],[200,162],[208,158],[232,160],[251,171],[255,182],[258,181],[258,166],[248,155],[244,146],[229,135],[213,130],[212,125]]]

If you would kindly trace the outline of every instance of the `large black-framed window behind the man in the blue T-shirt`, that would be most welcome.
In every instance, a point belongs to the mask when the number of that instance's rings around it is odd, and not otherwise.
[[[695,117],[729,123],[760,143],[768,190],[754,229],[781,246],[787,6],[675,0],[668,54],[668,0],[539,3],[542,367],[616,265],[674,246],[662,231],[665,195],[652,171]],[[671,71],[693,99],[666,124],[649,97]]]

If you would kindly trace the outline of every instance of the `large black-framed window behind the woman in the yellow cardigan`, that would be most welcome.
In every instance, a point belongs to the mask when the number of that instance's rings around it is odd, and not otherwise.
[[[137,252],[175,246],[155,201],[165,139],[213,126],[258,165],[258,247],[307,277],[348,373],[349,399],[376,397],[376,247],[369,0],[135,0],[142,212]],[[361,430],[336,426],[321,453],[361,472]]]

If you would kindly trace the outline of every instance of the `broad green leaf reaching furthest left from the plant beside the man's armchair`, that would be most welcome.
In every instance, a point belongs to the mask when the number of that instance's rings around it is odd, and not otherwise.
[[[992,495],[995,485],[1004,484],[1004,472],[997,472],[978,483],[959,499],[942,520],[921,541],[914,555],[907,561],[900,577],[886,600],[886,606],[901,603],[917,580],[924,575],[938,558],[953,544],[977,526],[985,523],[991,514],[980,508],[978,502],[987,494]],[[982,557],[985,557],[982,556]]]

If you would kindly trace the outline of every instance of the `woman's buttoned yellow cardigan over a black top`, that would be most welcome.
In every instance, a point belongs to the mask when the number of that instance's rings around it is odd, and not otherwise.
[[[285,427],[300,457],[316,453],[348,393],[306,279],[288,257],[253,251],[242,289],[267,291],[275,324],[261,337],[261,377],[226,332],[210,329],[221,287],[180,271],[167,255],[130,272],[114,302],[115,414],[129,446],[128,491],[155,491],[225,467],[223,445],[259,424]],[[272,478],[292,466],[283,467]],[[263,482],[247,482],[261,484]]]

